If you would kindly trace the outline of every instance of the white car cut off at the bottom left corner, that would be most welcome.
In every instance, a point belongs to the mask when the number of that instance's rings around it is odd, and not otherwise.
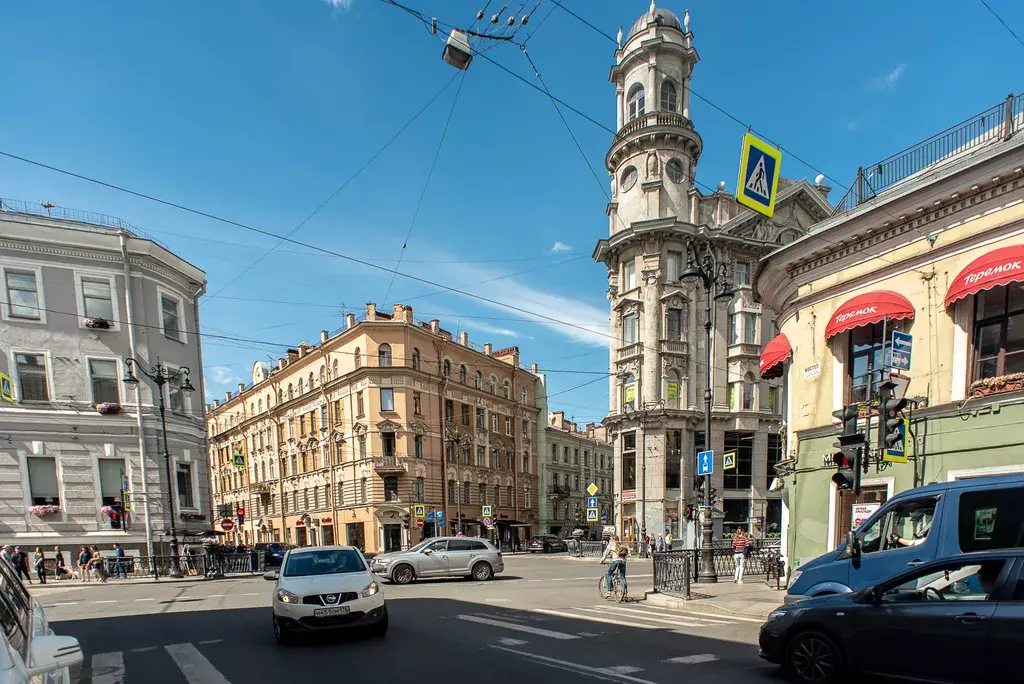
[[[74,637],[53,634],[43,606],[7,563],[0,562],[0,684],[72,684],[82,647]]]

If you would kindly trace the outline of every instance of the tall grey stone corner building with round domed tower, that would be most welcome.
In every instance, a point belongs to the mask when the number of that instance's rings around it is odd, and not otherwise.
[[[764,256],[831,213],[828,188],[780,180],[772,219],[741,207],[724,182],[717,191],[698,190],[703,144],[690,120],[689,83],[699,57],[689,14],[681,22],[652,3],[623,38],[609,75],[618,132],[605,157],[608,237],[594,250],[608,273],[604,425],[614,447],[615,526],[627,538],[671,531],[692,547],[686,510],[697,503],[695,453],[708,444],[716,455],[716,537],[739,528],[778,537],[781,502],[768,489],[782,455],[783,390],[779,379],[760,375],[762,346],[776,331],[751,283]],[[710,439],[707,295],[702,285],[680,281],[692,259],[709,254],[735,293],[712,307]],[[724,473],[723,452],[736,453],[735,468]]]

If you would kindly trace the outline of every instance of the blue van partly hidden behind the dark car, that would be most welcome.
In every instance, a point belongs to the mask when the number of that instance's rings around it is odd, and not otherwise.
[[[854,592],[936,558],[1021,547],[1024,475],[929,484],[896,495],[838,549],[794,570],[785,601]]]

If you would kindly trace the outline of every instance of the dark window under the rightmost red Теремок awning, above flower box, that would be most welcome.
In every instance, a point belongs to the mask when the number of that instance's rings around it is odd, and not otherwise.
[[[1024,288],[1020,284],[980,292],[974,304],[974,377],[1024,372]]]

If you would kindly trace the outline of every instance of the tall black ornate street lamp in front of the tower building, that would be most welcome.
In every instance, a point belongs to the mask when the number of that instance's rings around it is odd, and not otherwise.
[[[686,270],[679,276],[679,282],[697,280],[705,289],[705,450],[711,447],[711,407],[712,407],[712,355],[711,355],[711,301],[726,306],[734,296],[724,264],[719,264],[711,251],[711,246],[705,244],[705,253],[697,255],[696,247],[686,243]],[[718,582],[715,571],[715,530],[711,519],[711,475],[705,475],[703,501],[701,502],[700,521],[700,573],[699,581],[706,583]]]

